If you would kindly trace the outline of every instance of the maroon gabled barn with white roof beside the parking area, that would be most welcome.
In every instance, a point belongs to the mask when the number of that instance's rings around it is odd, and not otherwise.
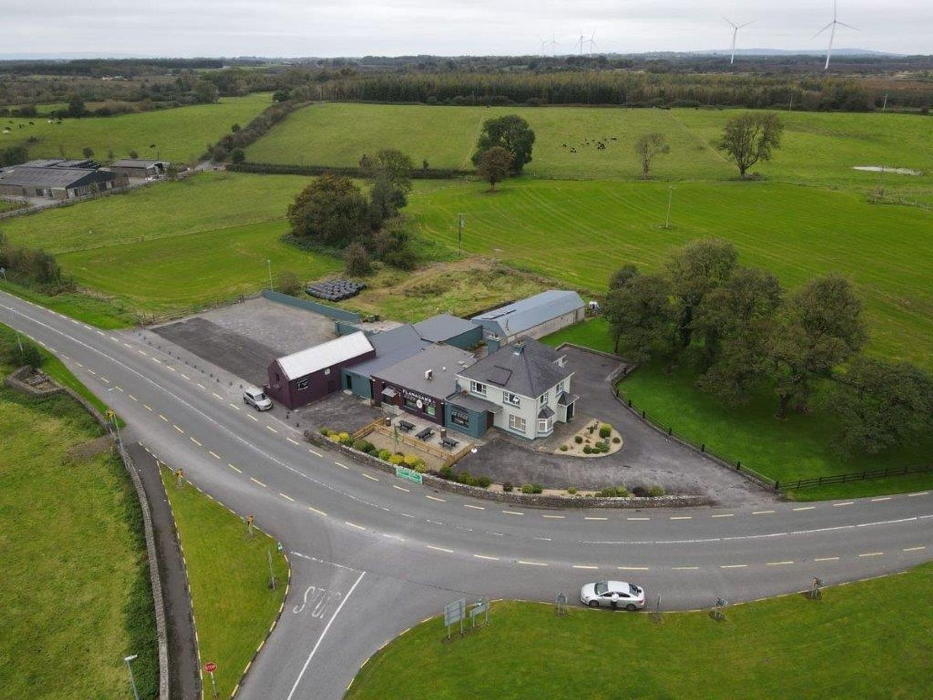
[[[341,389],[341,370],[375,357],[363,331],[279,357],[269,366],[266,393],[295,409]]]

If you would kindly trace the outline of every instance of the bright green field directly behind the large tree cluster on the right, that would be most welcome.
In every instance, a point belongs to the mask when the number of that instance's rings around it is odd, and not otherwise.
[[[931,366],[933,212],[781,183],[685,182],[664,229],[668,194],[664,183],[523,178],[494,193],[480,183],[416,190],[409,212],[450,249],[462,213],[466,252],[596,291],[620,265],[658,270],[672,247],[705,236],[731,241],[743,264],[787,287],[843,273],[866,302],[870,350]]]

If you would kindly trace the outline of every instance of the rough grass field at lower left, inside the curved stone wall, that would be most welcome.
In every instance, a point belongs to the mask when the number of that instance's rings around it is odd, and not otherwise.
[[[0,357],[14,345],[0,327]],[[73,399],[2,386],[0,435],[0,698],[127,697],[131,653],[157,697],[142,513],[109,441]]]

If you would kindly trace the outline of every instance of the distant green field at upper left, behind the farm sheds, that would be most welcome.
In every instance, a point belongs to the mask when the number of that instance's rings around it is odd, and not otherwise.
[[[128,158],[135,150],[140,158],[161,158],[176,163],[198,161],[209,144],[213,144],[239,123],[245,126],[272,105],[267,92],[254,92],[244,97],[224,97],[213,105],[191,105],[172,109],[157,109],[116,117],[64,119],[61,124],[49,124],[41,117],[0,119],[11,133],[0,134],[0,147],[24,145],[30,158],[82,158],[84,147],[91,147],[94,157],[107,161],[108,152],[115,158]],[[30,123],[33,122],[33,123]],[[22,128],[20,126],[22,125]],[[36,143],[28,143],[31,136]],[[152,148],[152,145],[155,148]]]

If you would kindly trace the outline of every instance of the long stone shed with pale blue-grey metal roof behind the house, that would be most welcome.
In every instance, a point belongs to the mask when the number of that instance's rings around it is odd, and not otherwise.
[[[541,338],[582,321],[584,315],[586,307],[577,292],[549,289],[534,297],[473,316],[472,321],[482,327],[483,338],[490,350],[495,350],[519,337]]]

